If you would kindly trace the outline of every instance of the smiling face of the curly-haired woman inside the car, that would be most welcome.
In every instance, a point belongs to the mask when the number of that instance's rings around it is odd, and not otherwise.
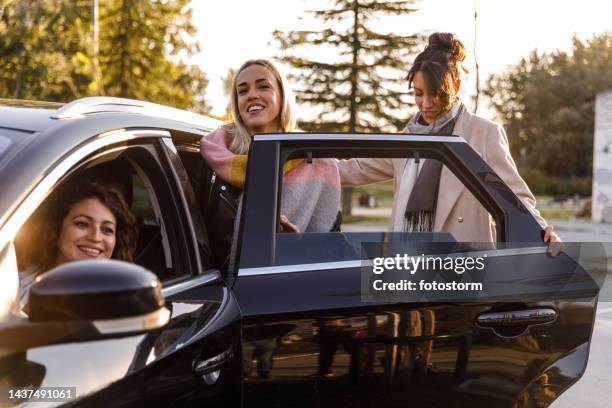
[[[117,220],[96,198],[74,204],[62,222],[57,265],[79,259],[110,259],[116,243]]]

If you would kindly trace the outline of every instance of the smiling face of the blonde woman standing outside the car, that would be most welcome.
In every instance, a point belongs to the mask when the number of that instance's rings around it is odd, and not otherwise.
[[[261,65],[250,65],[236,79],[238,112],[251,133],[281,131],[280,111],[283,103],[274,75]]]

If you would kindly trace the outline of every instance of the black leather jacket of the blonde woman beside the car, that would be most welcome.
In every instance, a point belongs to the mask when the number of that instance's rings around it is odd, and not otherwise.
[[[210,241],[210,266],[224,271],[228,266],[242,189],[223,181],[204,160],[198,165],[192,184]]]

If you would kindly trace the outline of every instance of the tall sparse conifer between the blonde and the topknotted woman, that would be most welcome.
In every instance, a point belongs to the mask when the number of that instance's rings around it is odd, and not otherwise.
[[[422,38],[378,33],[369,23],[381,15],[409,14],[414,2],[334,0],[328,9],[311,12],[321,30],[274,32],[284,50],[279,60],[294,68],[297,100],[322,110],[316,121],[299,123],[302,129],[380,131],[405,125],[411,105],[408,61]],[[312,58],[315,49],[337,59]]]

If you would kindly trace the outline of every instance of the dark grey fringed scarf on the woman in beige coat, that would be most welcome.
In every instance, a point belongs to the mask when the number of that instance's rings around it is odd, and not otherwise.
[[[430,124],[423,123],[420,112],[404,128],[405,133],[450,135],[453,132],[457,117],[464,109],[463,103],[454,104],[451,109]],[[412,164],[412,163],[411,163]],[[406,161],[408,165],[408,161]],[[404,231],[431,232],[435,221],[435,210],[440,186],[442,162],[439,160],[423,160],[423,166],[416,173],[414,187],[408,198],[404,212]],[[416,176],[418,174],[418,176]]]

